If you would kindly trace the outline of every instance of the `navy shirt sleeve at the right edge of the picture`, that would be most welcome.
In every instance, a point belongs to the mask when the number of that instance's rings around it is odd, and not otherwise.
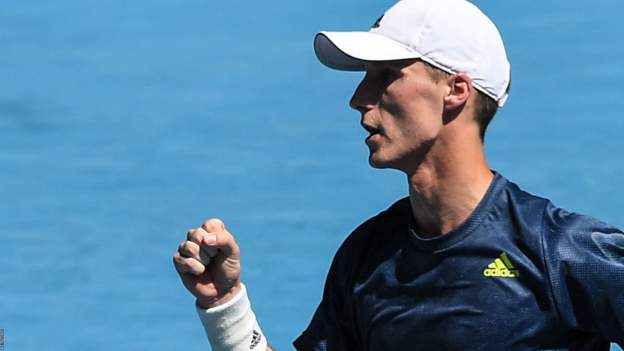
[[[624,233],[591,217],[555,211],[545,233],[553,297],[571,339],[624,347]],[[608,349],[608,346],[606,346]]]

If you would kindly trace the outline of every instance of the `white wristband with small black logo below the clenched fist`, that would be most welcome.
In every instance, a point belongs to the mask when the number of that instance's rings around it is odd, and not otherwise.
[[[241,287],[241,291],[223,305],[209,309],[196,305],[213,351],[265,351],[267,348],[266,337],[251,310],[247,289],[243,284]]]

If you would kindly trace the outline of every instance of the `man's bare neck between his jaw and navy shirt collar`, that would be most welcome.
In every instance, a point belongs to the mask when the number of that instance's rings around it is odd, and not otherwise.
[[[494,177],[480,142],[453,145],[440,140],[407,176],[415,230],[424,237],[446,234],[462,224]]]

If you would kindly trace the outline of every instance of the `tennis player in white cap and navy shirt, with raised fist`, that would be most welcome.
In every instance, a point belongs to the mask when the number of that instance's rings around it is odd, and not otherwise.
[[[522,191],[483,137],[507,98],[494,24],[465,0],[403,0],[368,32],[321,32],[334,69],[365,71],[351,107],[369,162],[409,196],[340,247],[298,350],[608,350],[624,346],[624,234]],[[213,350],[265,350],[239,249],[212,219],[174,257]]]

